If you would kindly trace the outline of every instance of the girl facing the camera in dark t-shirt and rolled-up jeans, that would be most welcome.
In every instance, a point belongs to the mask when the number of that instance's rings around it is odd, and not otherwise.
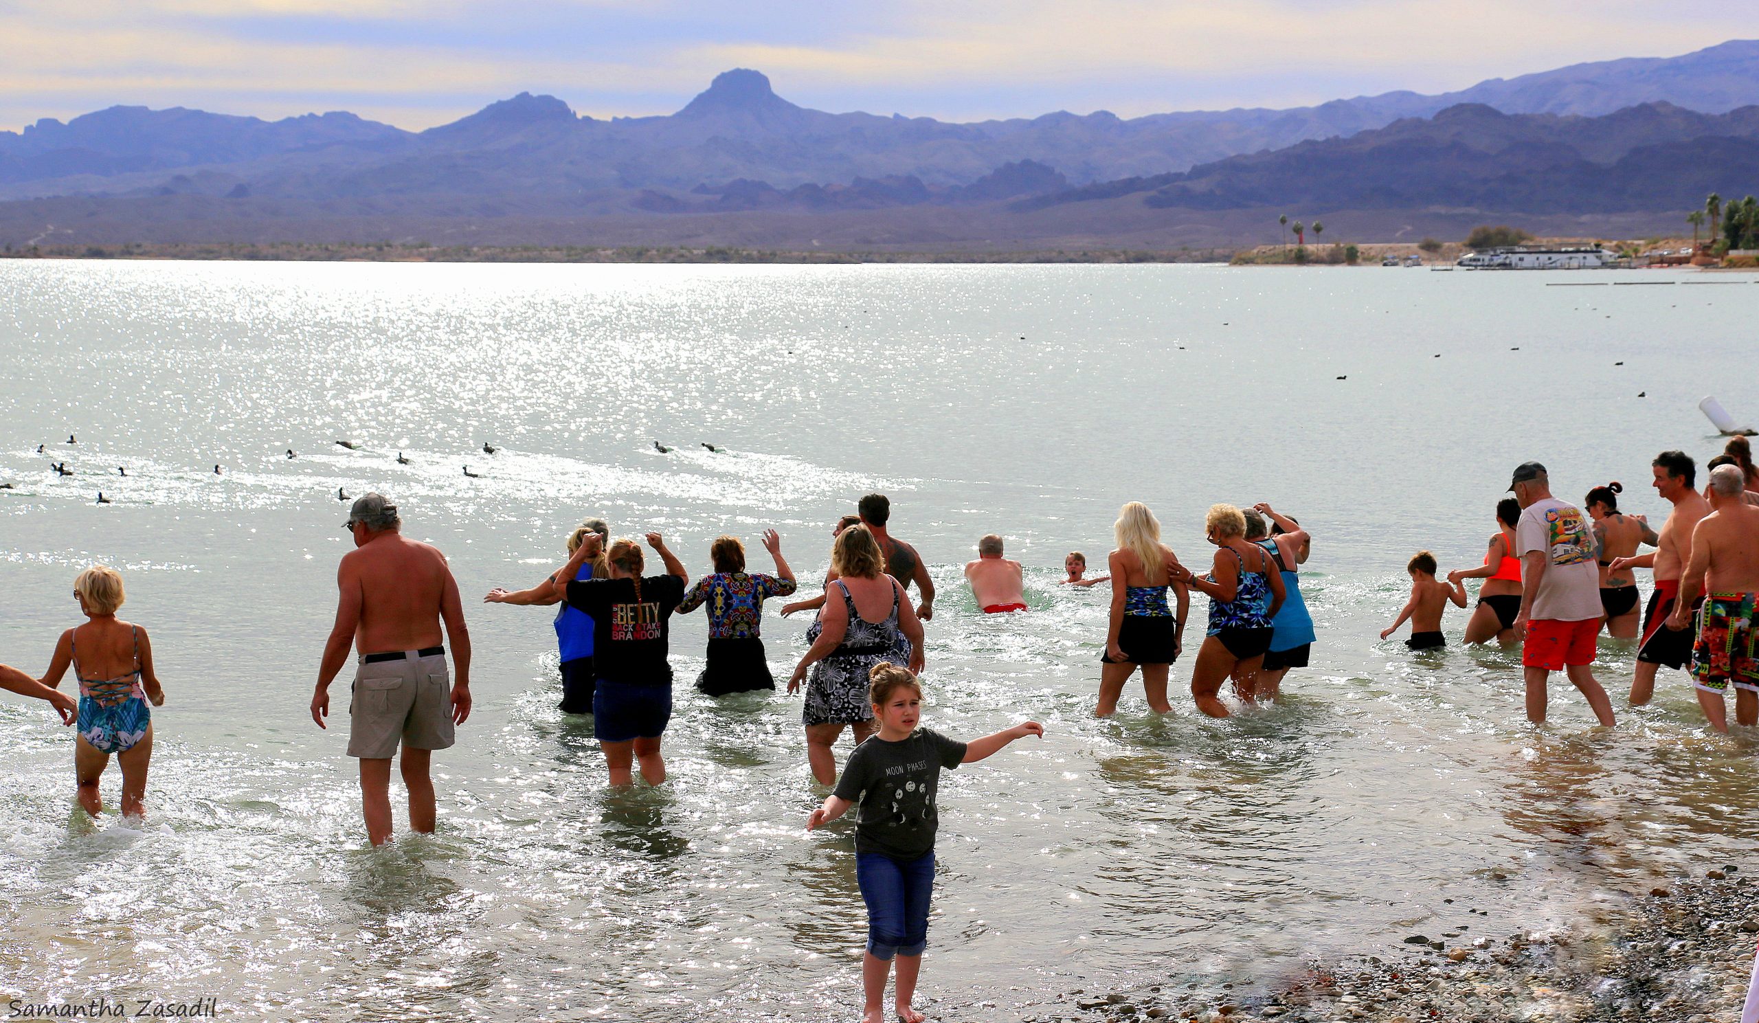
[[[806,821],[811,831],[828,824],[860,803],[855,824],[855,881],[867,903],[867,953],[862,956],[862,1023],[885,1019],[887,974],[897,958],[894,1007],[899,1023],[922,1023],[922,1012],[909,1007],[922,970],[922,949],[929,940],[929,895],[934,889],[934,828],[938,824],[934,791],[941,768],[976,763],[1010,742],[1036,735],[1045,728],[1022,721],[1006,731],[971,744],[916,728],[922,712],[922,684],[904,668],[888,661],[869,673],[867,696],[880,731],[855,747],[843,766],[834,793]]]

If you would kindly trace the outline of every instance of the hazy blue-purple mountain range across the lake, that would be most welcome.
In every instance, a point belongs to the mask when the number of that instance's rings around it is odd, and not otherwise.
[[[584,118],[556,97],[521,93],[426,132],[348,112],[264,121],[111,107],[42,120],[0,132],[0,241],[47,230],[77,241],[419,232],[500,244],[524,234],[533,243],[806,244],[828,234],[844,239],[830,244],[1106,244],[1126,211],[1189,227],[1266,206],[1418,220],[1652,213],[1659,223],[1706,190],[1759,190],[1755,155],[1754,40],[1444,95],[1131,120],[832,114],[735,69],[675,114],[653,118]],[[966,213],[948,218],[948,209]],[[558,225],[572,227],[558,234]]]

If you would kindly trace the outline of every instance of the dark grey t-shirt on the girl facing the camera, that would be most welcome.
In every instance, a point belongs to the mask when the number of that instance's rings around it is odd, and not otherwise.
[[[1599,598],[1595,598],[1599,599]],[[836,796],[858,807],[855,851],[918,860],[934,851],[934,791],[941,768],[957,768],[966,744],[918,728],[909,738],[878,735],[855,747],[837,779]]]

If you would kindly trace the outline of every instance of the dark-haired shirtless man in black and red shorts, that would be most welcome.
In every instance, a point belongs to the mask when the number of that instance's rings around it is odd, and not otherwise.
[[[1627,568],[1652,568],[1655,571],[1655,591],[1650,594],[1648,612],[1643,615],[1643,645],[1638,647],[1636,677],[1631,680],[1631,705],[1643,707],[1655,696],[1655,671],[1685,668],[1692,656],[1692,633],[1685,628],[1668,628],[1675,598],[1680,594],[1680,573],[1692,561],[1692,529],[1697,520],[1710,515],[1710,503],[1704,501],[1694,485],[1697,483],[1697,466],[1685,452],[1662,452],[1650,462],[1655,475],[1655,492],[1673,503],[1668,522],[1662,524],[1652,554],[1636,557],[1615,557],[1608,573]],[[1696,608],[1692,608],[1696,610]]]

